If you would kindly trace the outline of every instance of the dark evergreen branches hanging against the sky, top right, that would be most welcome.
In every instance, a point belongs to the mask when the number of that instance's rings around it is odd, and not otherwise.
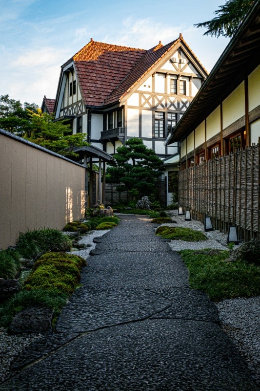
[[[226,3],[214,12],[218,17],[194,26],[207,28],[203,35],[232,38],[254,2],[255,0],[226,0]]]

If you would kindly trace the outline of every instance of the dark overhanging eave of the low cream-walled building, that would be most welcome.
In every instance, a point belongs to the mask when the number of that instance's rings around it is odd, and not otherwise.
[[[182,141],[259,65],[260,2],[256,1],[165,145]]]

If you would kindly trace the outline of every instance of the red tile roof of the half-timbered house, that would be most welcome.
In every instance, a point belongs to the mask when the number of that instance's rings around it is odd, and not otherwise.
[[[91,38],[64,65],[74,61],[84,104],[103,106],[119,102],[180,42],[199,62],[180,34],[177,40],[164,46],[160,42],[149,50],[96,42]]]

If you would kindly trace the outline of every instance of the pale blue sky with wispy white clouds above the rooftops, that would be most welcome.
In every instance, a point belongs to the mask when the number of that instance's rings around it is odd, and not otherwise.
[[[55,98],[60,66],[90,38],[149,49],[182,33],[210,71],[229,43],[203,36],[225,0],[0,0],[0,95],[41,106]]]

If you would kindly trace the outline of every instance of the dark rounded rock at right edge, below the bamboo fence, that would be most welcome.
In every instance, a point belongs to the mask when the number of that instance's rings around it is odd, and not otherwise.
[[[260,265],[260,239],[252,239],[241,244],[238,249],[231,253],[230,259],[232,261],[241,260]]]

